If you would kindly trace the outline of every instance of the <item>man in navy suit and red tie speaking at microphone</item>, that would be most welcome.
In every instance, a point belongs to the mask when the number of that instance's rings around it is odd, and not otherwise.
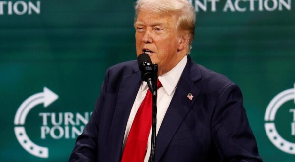
[[[138,0],[136,54],[158,64],[155,162],[262,162],[240,89],[194,63],[187,0]],[[110,67],[71,162],[148,162],[151,93],[136,61]]]

